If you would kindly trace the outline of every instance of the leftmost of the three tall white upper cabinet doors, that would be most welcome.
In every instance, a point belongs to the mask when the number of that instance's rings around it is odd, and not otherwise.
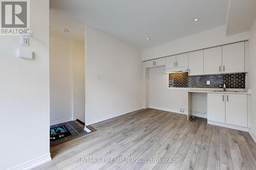
[[[203,75],[204,52],[203,50],[188,53],[188,75]]]

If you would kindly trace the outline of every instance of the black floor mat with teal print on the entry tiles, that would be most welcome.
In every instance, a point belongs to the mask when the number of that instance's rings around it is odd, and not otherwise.
[[[60,138],[70,136],[71,133],[65,125],[50,128],[50,140],[55,141]]]

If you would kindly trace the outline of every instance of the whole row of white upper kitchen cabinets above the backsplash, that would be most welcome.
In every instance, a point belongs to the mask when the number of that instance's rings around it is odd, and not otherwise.
[[[145,68],[162,65],[165,65],[166,69],[188,66],[189,76],[246,72],[248,71],[248,41],[144,62]]]

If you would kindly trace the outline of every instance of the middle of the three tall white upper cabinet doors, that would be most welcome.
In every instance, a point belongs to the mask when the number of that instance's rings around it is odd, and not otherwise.
[[[204,74],[220,74],[222,68],[222,47],[204,50]]]

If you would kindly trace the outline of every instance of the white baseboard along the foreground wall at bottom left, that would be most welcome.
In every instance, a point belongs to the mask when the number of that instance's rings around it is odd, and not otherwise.
[[[19,164],[19,165],[16,165],[14,167],[11,167],[11,168],[9,168],[7,170],[14,170],[14,169],[15,170],[19,170],[19,169],[20,170],[21,169],[29,170],[29,169],[32,169],[34,167],[40,166],[40,165],[42,165],[44,163],[47,163],[47,162],[49,162],[51,160],[52,160],[51,155],[50,155],[50,153],[48,153],[48,154],[39,156],[37,158],[31,159],[31,160],[29,160],[27,162],[24,162],[22,164]]]

